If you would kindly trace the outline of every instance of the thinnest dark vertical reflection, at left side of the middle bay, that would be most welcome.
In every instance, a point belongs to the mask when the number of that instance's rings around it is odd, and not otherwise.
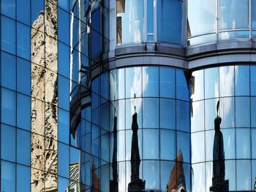
[[[118,168],[117,168],[117,117],[114,118],[113,134],[114,134],[114,143],[113,143],[113,157],[112,157],[112,175],[113,180],[110,180],[110,191],[118,192]]]

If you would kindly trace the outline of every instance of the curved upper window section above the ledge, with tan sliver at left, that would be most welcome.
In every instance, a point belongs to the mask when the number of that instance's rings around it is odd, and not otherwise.
[[[117,45],[159,42],[184,43],[184,1],[116,1]]]

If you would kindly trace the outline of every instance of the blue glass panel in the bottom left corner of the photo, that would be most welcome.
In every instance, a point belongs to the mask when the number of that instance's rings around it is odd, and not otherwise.
[[[1,161],[1,191],[15,192],[15,164]]]

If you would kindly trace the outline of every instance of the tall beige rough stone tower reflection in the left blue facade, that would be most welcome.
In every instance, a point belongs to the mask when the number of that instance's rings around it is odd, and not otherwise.
[[[57,191],[58,31],[50,2],[31,29],[31,191]]]

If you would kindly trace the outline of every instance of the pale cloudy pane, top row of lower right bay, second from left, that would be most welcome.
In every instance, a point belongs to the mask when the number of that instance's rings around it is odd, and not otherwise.
[[[205,2],[205,1],[203,1]],[[205,69],[205,98],[219,96],[219,67]]]

